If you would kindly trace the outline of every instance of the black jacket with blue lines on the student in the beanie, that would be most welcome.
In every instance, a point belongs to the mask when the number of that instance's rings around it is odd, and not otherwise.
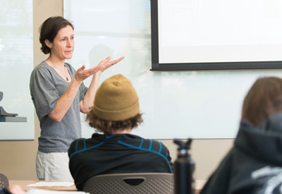
[[[75,140],[68,150],[75,186],[82,190],[88,178],[99,174],[173,173],[168,149],[137,135],[100,135]]]

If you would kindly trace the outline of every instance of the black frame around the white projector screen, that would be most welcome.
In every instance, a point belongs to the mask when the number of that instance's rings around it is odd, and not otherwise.
[[[247,61],[216,63],[159,63],[158,0],[151,1],[151,71],[195,71],[282,68],[282,61]],[[282,51],[281,51],[282,54]]]

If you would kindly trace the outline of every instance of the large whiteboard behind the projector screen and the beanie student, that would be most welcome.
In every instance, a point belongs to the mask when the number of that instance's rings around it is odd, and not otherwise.
[[[149,0],[65,0],[63,7],[75,25],[68,61],[75,69],[125,56],[102,73],[101,82],[117,73],[132,80],[144,118],[133,134],[143,138],[234,138],[252,83],[260,76],[282,77],[281,70],[152,72]],[[90,138],[94,129],[81,118],[82,135]]]

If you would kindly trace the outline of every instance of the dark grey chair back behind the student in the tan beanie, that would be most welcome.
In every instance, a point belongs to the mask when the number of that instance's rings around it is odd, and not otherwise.
[[[104,174],[89,178],[83,190],[90,194],[173,193],[173,174]]]

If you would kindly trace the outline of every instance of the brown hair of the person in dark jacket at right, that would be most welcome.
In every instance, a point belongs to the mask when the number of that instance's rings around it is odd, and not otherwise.
[[[278,111],[282,111],[282,79],[258,78],[244,99],[242,119],[257,126]]]

